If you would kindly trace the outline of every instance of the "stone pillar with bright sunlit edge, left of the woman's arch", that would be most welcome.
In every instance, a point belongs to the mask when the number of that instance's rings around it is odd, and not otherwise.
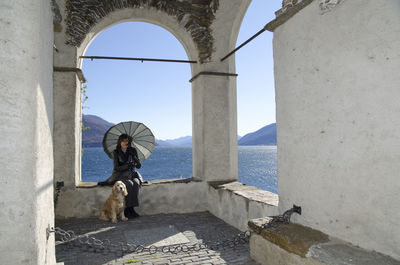
[[[81,176],[80,88],[84,78],[77,68],[77,48],[66,44],[65,0],[58,2],[62,19],[54,26],[54,181],[75,188]]]

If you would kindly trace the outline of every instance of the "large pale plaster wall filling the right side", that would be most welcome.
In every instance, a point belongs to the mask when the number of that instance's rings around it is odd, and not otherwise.
[[[274,32],[280,208],[400,258],[400,2],[318,4]]]

